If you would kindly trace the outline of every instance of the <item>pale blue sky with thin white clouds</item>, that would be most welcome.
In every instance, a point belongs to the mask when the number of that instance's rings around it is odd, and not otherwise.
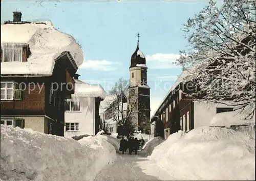
[[[74,36],[84,51],[80,80],[100,83],[106,91],[119,78],[129,79],[131,55],[137,46],[148,56],[148,84],[152,109],[162,101],[181,70],[172,65],[185,50],[182,24],[208,1],[2,1],[2,18],[50,19],[62,32]],[[173,55],[172,55],[173,54]],[[90,63],[89,63],[90,62]],[[107,83],[106,83],[107,82]],[[157,85],[156,85],[157,84]]]

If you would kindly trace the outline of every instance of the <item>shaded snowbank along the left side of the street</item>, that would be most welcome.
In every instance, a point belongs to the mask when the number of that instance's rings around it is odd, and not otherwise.
[[[116,157],[104,135],[75,141],[1,125],[2,180],[93,180]]]

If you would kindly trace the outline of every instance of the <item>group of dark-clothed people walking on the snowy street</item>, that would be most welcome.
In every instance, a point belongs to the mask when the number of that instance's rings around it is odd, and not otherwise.
[[[140,147],[141,140],[138,140],[137,138],[134,138],[134,137],[132,138],[129,137],[128,140],[125,140],[124,137],[122,137],[122,139],[120,140],[119,150],[122,151],[122,154],[127,151],[129,151],[129,154],[132,154],[132,152],[137,154]]]

